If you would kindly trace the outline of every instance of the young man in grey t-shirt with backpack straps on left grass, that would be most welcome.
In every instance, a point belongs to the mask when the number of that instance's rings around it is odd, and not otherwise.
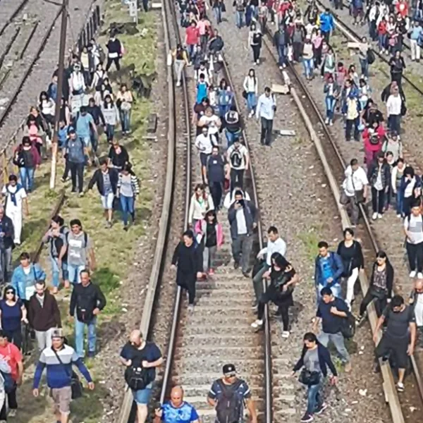
[[[91,270],[95,269],[94,247],[90,236],[82,231],[79,219],[71,220],[71,231],[66,234],[65,245],[59,255],[59,268],[65,257],[68,257],[68,276],[71,283],[80,283],[80,272],[87,264]]]

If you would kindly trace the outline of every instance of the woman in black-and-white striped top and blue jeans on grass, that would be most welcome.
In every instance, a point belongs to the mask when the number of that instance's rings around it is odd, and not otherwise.
[[[123,230],[128,231],[128,214],[135,222],[135,197],[140,194],[140,184],[138,178],[133,173],[132,165],[126,163],[123,166],[118,178],[118,190],[116,197],[121,202]]]

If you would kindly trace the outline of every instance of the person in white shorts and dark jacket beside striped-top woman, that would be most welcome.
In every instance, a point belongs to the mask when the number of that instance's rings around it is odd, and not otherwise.
[[[113,217],[113,201],[118,188],[119,174],[114,168],[107,166],[106,159],[100,161],[100,168],[94,172],[90,183],[88,183],[87,190],[91,190],[94,184],[97,185],[97,190],[102,198],[102,205],[104,215],[106,217],[106,226],[111,228]]]

